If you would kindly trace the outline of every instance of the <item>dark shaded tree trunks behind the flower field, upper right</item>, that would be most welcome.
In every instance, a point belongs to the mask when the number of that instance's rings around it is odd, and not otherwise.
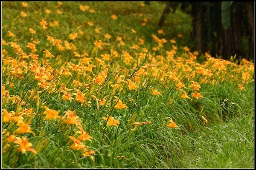
[[[190,38],[198,51],[254,58],[254,2],[166,2],[159,26],[177,8],[191,16]]]

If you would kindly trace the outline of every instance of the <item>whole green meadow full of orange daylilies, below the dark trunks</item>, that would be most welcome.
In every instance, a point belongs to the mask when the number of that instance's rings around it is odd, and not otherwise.
[[[253,61],[164,7],[2,2],[2,168],[253,168]]]

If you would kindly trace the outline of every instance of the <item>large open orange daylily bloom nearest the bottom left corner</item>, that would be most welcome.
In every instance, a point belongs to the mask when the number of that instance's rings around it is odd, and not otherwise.
[[[21,153],[25,153],[26,151],[31,151],[35,154],[37,154],[37,151],[32,148],[32,143],[30,143],[28,141],[28,139],[26,137],[22,137],[22,139],[20,137],[16,137],[16,140],[14,141],[15,144],[19,144],[20,146],[18,147],[18,151],[20,151]]]

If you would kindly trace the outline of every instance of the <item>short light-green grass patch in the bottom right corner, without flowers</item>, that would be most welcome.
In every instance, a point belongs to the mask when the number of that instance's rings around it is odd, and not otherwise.
[[[253,168],[252,113],[226,123],[214,122],[211,128],[195,133],[180,168]]]

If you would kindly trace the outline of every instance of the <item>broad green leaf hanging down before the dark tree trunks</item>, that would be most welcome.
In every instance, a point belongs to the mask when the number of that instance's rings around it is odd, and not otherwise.
[[[230,26],[230,6],[233,2],[221,2],[221,23],[224,29]]]

